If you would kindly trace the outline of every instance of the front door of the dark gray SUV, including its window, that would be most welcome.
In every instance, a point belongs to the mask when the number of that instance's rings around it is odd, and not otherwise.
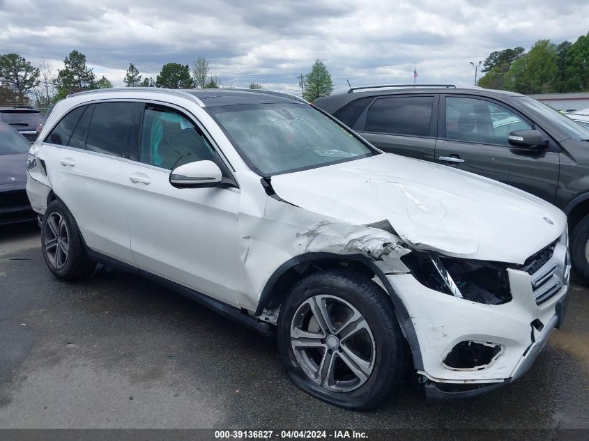
[[[560,154],[514,148],[507,142],[512,130],[535,128],[533,123],[493,100],[447,95],[440,104],[437,162],[555,200]]]

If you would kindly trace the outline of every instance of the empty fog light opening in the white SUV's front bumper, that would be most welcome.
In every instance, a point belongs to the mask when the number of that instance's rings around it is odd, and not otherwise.
[[[442,366],[452,371],[481,371],[487,369],[503,354],[503,346],[487,341],[461,341],[448,355]]]

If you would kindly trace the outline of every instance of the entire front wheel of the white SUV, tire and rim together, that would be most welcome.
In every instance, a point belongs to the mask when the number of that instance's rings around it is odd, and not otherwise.
[[[404,342],[386,293],[361,274],[311,274],[278,319],[280,356],[303,391],[342,408],[374,408],[397,388]]]

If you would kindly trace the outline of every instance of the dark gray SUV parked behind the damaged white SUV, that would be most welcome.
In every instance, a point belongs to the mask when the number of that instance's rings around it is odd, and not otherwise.
[[[519,93],[452,84],[366,86],[314,103],[386,152],[519,187],[563,210],[589,284],[589,130]]]

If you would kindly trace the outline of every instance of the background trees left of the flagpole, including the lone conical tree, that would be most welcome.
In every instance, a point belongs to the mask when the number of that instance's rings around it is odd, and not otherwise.
[[[123,83],[127,87],[164,88],[218,88],[221,86],[216,75],[211,75],[211,66],[203,57],[192,63],[167,63],[160,73],[144,77],[139,70],[129,64]],[[311,71],[305,75],[303,98],[314,101],[320,96],[329,95],[333,90],[331,75],[322,61],[316,60]],[[34,105],[46,108],[70,93],[89,91],[97,88],[112,88],[113,84],[104,75],[98,78],[86,64],[86,56],[77,50],[70,52],[63,60],[63,69],[54,72],[49,63],[33,65],[19,54],[0,55],[0,106]],[[231,86],[229,86],[231,87]],[[256,82],[248,86],[261,89]]]

